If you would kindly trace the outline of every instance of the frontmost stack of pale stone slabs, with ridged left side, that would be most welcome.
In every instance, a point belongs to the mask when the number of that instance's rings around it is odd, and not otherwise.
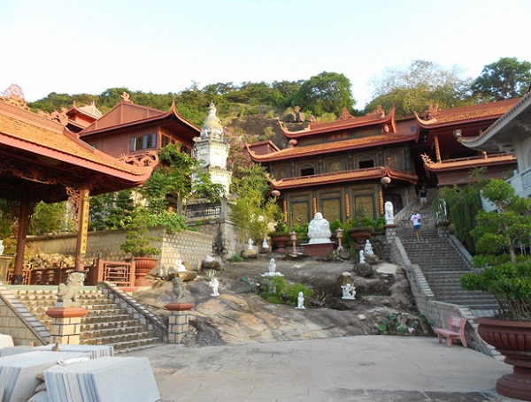
[[[160,399],[148,358],[102,357],[44,371],[54,402],[155,402]]]

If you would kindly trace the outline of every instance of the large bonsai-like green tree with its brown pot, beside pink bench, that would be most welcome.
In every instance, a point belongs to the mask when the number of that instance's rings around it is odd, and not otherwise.
[[[494,317],[476,319],[481,338],[513,366],[511,375],[497,380],[496,391],[531,400],[531,258],[515,250],[519,239],[529,239],[531,233],[531,200],[515,195],[501,179],[490,180],[481,195],[497,212],[482,210],[476,216],[473,235],[480,254],[473,262],[482,270],[463,275],[461,285],[492,293],[500,305]]]

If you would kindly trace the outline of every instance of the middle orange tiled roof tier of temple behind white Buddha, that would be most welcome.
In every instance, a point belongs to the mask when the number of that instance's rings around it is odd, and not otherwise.
[[[392,144],[396,142],[404,142],[414,140],[416,134],[382,134],[373,135],[369,137],[356,138],[352,140],[340,140],[334,142],[326,142],[323,144],[307,145],[301,147],[290,147],[281,149],[277,152],[272,152],[266,155],[257,155],[251,149],[249,153],[251,158],[256,162],[278,161],[286,158],[308,156],[314,154],[326,154],[330,152],[344,151],[355,148],[366,148],[375,145]]]

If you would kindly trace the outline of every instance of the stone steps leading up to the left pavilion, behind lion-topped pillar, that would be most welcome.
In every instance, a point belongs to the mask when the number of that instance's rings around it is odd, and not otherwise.
[[[50,330],[52,319],[46,315],[46,310],[56,305],[57,287],[34,288],[12,292]],[[89,310],[89,314],[81,318],[81,345],[112,345],[118,353],[160,343],[153,331],[147,330],[145,325],[133,319],[125,308],[119,307],[103,292],[86,288],[78,297],[81,306]]]

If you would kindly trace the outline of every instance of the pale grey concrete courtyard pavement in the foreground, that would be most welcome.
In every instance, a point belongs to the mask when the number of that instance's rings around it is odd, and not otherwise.
[[[495,391],[501,360],[436,338],[356,336],[190,348],[147,356],[164,402],[515,401]]]

